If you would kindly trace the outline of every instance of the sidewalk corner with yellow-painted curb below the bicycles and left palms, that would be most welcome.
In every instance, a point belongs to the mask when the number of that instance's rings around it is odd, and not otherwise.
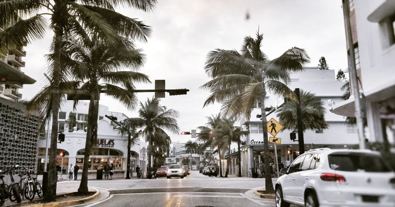
[[[76,184],[66,184],[67,181],[60,181],[56,184],[56,196],[62,196],[65,194],[70,194],[73,192],[77,192],[77,189],[79,187],[79,183]],[[61,206],[70,206],[70,205],[77,205],[77,204],[82,204],[82,203],[94,203],[97,202],[98,199],[105,199],[109,196],[109,192],[103,190],[103,189],[98,189],[98,188],[93,188],[93,187],[88,187],[88,191],[89,192],[96,192],[95,194],[93,194],[92,196],[89,197],[85,197],[85,198],[81,198],[81,199],[73,199],[70,198],[71,200],[69,201],[56,201],[56,202],[52,202],[52,203],[32,203],[30,206],[34,206],[34,207],[61,207]],[[21,203],[17,203],[15,202],[11,202],[9,199],[6,200],[6,202],[4,203],[3,206],[20,206],[21,204],[26,205],[26,203],[28,202],[38,202],[41,200],[41,198],[38,198],[38,196],[36,195],[33,199],[33,201],[30,201],[26,198],[21,198],[22,201]],[[30,207],[29,205],[27,205],[27,207]]]

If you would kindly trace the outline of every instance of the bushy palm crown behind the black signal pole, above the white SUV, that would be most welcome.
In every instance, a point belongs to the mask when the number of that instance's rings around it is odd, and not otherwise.
[[[290,100],[282,107],[277,109],[277,117],[280,118],[280,123],[283,129],[294,130],[297,129],[296,120],[296,100]],[[302,116],[303,131],[305,130],[322,130],[328,128],[328,123],[325,121],[324,102],[320,97],[316,97],[314,93],[307,91],[300,91],[300,106]]]

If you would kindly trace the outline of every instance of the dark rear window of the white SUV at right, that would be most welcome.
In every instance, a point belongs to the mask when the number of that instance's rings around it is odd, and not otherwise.
[[[374,154],[329,154],[329,167],[339,171],[390,172],[380,156]]]

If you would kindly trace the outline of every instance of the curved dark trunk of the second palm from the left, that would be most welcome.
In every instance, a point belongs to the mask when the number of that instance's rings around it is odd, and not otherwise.
[[[78,192],[86,194],[88,193],[88,167],[89,167],[89,156],[93,144],[97,143],[97,128],[98,128],[98,116],[99,116],[99,95],[98,90],[94,90],[91,93],[88,109],[88,129],[87,138],[85,140],[85,152],[84,152],[84,164],[82,167],[81,182],[79,183]]]

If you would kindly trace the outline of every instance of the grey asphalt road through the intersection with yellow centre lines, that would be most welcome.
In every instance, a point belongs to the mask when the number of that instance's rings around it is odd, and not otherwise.
[[[88,186],[107,190],[110,195],[107,199],[85,206],[275,207],[274,199],[251,196],[254,188],[261,188],[264,182],[264,179],[244,177],[208,177],[198,171],[192,171],[184,179],[89,180]]]

